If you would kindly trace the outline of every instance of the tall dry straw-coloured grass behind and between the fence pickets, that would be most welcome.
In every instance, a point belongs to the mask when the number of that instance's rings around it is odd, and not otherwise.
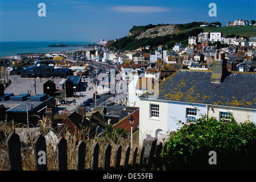
[[[26,126],[23,127],[24,130],[27,130]],[[10,126],[6,126],[5,122],[0,122],[0,131],[1,131],[1,138],[3,140],[0,143],[0,170],[5,171],[9,170],[9,164],[6,155],[6,139],[8,135],[13,131],[13,128]],[[42,130],[44,132],[44,130]],[[34,153],[32,150],[32,143],[35,140],[36,132],[38,131],[30,131],[32,133],[31,140],[24,137],[20,137],[20,140],[23,141],[21,155],[22,155],[22,166],[24,171],[34,171],[35,170],[35,163],[34,163]],[[17,133],[17,131],[16,131]],[[18,133],[17,133],[18,134]],[[86,131],[82,134],[86,135]],[[86,139],[82,137],[82,135],[71,135],[70,133],[65,134],[65,139],[67,140],[67,154],[68,154],[68,169],[76,169],[76,148],[77,148],[77,140],[83,140],[86,143],[86,156],[85,156],[85,168],[90,168],[90,162],[92,157],[92,151],[94,143],[98,142],[100,146],[100,154],[99,154],[99,167],[102,167],[103,160],[104,160],[104,149],[107,144],[112,146],[112,157],[110,161],[110,166],[114,166],[114,155],[115,150],[119,146],[122,146],[122,158],[121,164],[123,164],[124,159],[124,151],[126,146],[130,146],[130,137],[123,139],[121,137],[118,138],[118,142],[114,143],[108,137],[94,137],[90,139]],[[51,140],[51,139],[50,139]],[[133,147],[137,146],[139,148],[139,139],[138,135],[133,136]],[[131,162],[131,155],[132,150],[130,152],[130,162]],[[56,170],[56,140],[52,139],[51,142],[47,142],[47,169],[48,170]]]

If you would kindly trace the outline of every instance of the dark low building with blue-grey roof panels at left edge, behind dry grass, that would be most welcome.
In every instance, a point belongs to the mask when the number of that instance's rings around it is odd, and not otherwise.
[[[14,96],[13,93],[3,93],[0,96],[0,117],[2,121],[21,123],[35,127],[39,119],[43,118],[47,108],[55,108],[55,99],[47,94],[22,93]]]

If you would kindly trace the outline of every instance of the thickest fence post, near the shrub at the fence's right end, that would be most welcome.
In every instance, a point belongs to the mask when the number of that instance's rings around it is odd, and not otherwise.
[[[144,151],[144,159],[145,162],[145,170],[150,171],[154,159],[155,148],[156,148],[157,139],[153,137],[147,137],[143,141],[143,147],[145,148]]]

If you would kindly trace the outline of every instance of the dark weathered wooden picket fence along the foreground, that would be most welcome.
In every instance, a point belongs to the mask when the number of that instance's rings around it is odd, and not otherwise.
[[[7,138],[7,158],[9,162],[10,171],[22,171],[22,159],[20,152],[20,138],[18,134],[10,133]],[[139,158],[137,162],[138,148],[134,147],[132,151],[132,159],[129,164],[130,146],[125,148],[125,157],[123,164],[121,164],[121,152],[122,146],[119,145],[115,150],[114,166],[110,166],[110,158],[112,158],[112,146],[107,144],[104,151],[104,162],[103,166],[98,166],[100,146],[96,142],[93,146],[92,160],[90,168],[85,168],[85,147],[86,143],[80,141],[77,145],[77,156],[76,156],[76,171],[156,171],[163,169],[164,152],[166,151],[165,144],[157,144],[157,139],[148,137],[143,140],[143,146],[139,152]],[[43,135],[39,135],[35,138],[32,145],[34,156],[35,156],[35,170],[36,171],[47,171],[47,155],[46,155],[46,139]],[[58,139],[56,144],[56,161],[57,171],[67,171],[67,140],[63,137]]]

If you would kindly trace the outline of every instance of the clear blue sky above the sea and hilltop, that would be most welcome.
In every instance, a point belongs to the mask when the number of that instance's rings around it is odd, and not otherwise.
[[[39,3],[46,17],[39,17]],[[217,16],[210,17],[209,3]],[[81,41],[122,38],[147,24],[256,20],[256,1],[1,0],[0,41]]]

